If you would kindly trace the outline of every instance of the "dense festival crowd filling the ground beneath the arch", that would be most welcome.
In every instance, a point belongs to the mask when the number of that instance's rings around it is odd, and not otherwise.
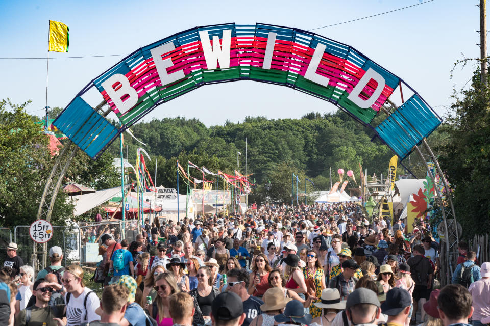
[[[424,220],[368,220],[350,203],[266,204],[247,214],[146,220],[132,241],[110,229],[85,285],[60,247],[36,275],[10,243],[0,323],[20,325],[480,326],[490,322],[490,263],[459,243],[452,283],[434,289],[439,247]],[[94,233],[95,234],[95,233]],[[437,284],[437,283],[436,283]],[[471,320],[471,321],[469,321]]]

